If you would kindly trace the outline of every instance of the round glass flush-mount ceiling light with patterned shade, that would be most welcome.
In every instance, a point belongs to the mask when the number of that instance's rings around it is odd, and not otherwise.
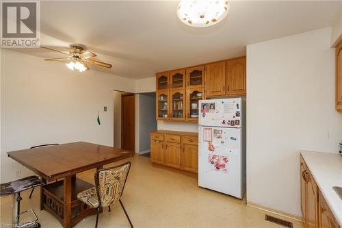
[[[181,0],[179,19],[192,27],[208,27],[222,21],[228,14],[227,0]]]

